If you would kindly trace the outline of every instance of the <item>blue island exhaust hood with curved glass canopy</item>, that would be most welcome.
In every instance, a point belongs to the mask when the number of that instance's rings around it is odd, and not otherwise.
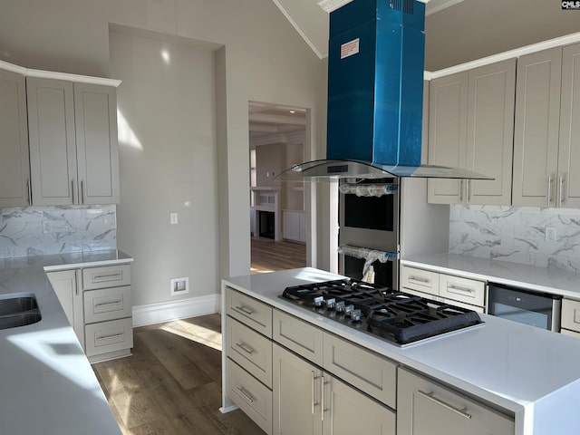
[[[420,164],[425,5],[353,0],[330,14],[326,160],[279,179],[491,179]]]

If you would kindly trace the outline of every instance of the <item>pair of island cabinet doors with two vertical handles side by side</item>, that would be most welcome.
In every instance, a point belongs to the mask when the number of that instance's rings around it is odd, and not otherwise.
[[[273,345],[274,433],[395,435],[395,413],[312,363]]]

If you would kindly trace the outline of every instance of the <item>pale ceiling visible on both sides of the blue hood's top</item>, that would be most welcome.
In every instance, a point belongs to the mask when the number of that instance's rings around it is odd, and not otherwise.
[[[352,0],[272,0],[295,27],[314,53],[323,59],[328,55],[330,11]],[[425,14],[435,14],[463,0],[420,0],[426,3]],[[328,11],[328,12],[327,12]]]

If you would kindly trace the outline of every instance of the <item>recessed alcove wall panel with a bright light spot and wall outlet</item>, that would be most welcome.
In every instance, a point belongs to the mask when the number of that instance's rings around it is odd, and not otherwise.
[[[178,277],[189,277],[189,295],[181,297],[212,294],[218,280],[214,51],[118,28],[110,45],[111,75],[123,81],[118,243],[136,256],[133,303],[168,299],[169,280]],[[178,213],[177,225],[170,225],[169,213]]]

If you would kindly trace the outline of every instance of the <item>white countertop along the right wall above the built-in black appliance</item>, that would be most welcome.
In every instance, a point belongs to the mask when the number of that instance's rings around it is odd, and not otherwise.
[[[401,265],[580,298],[580,275],[556,268],[520,265],[456,254],[412,256],[402,259]]]

